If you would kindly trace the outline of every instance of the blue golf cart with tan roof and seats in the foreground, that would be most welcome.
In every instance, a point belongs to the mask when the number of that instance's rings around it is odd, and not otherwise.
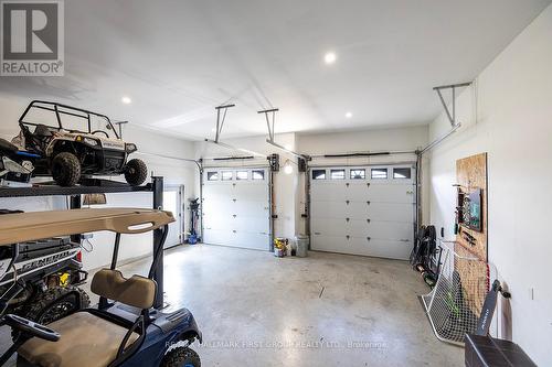
[[[189,346],[202,341],[190,311],[163,313],[153,309],[153,280],[162,257],[169,212],[135,208],[94,208],[9,214],[0,220],[0,247],[44,237],[109,230],[116,234],[112,265],[92,280],[99,295],[97,307],[75,312],[47,327],[7,314],[0,325],[19,332],[13,345],[0,357],[0,366],[18,353],[19,367],[70,366],[160,366],[200,367],[198,354]],[[156,239],[148,277],[124,278],[117,268],[121,234],[161,230]]]

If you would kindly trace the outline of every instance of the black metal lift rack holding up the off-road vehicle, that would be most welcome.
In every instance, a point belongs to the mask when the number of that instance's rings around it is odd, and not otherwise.
[[[163,177],[152,176],[151,182],[142,186],[130,186],[126,183],[103,179],[86,179],[78,186],[62,187],[53,183],[40,183],[30,187],[0,187],[1,197],[36,197],[36,196],[68,196],[72,209],[81,208],[81,195],[85,194],[115,194],[150,192],[153,195],[153,208],[162,209],[163,205]],[[74,234],[79,237],[79,234]],[[160,238],[162,229],[153,230],[153,253],[157,246],[162,246]],[[79,240],[79,238],[78,238]],[[162,251],[161,251],[162,253]],[[153,279],[157,282],[156,309],[163,306],[163,257],[161,256],[155,270]]]

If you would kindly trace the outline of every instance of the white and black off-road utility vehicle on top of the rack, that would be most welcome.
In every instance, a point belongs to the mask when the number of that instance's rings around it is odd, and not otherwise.
[[[148,175],[144,161],[128,155],[136,144],[123,141],[109,118],[56,102],[33,100],[19,119],[20,148],[40,156],[35,175],[52,175],[61,186],[74,186],[83,175],[124,174],[132,185]]]

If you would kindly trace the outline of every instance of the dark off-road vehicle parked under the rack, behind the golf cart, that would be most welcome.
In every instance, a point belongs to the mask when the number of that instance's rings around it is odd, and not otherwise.
[[[0,314],[49,324],[87,307],[88,294],[78,288],[88,276],[79,252],[70,237],[0,247]]]

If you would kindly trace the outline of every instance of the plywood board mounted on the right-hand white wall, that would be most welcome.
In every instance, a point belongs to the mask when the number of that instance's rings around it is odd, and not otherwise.
[[[487,153],[480,153],[456,161],[456,182],[459,188],[469,193],[473,190],[481,190],[481,231],[474,230],[460,225],[456,241],[464,249],[468,250],[482,261],[487,261]],[[474,244],[468,242],[464,237],[467,234],[475,239]]]

